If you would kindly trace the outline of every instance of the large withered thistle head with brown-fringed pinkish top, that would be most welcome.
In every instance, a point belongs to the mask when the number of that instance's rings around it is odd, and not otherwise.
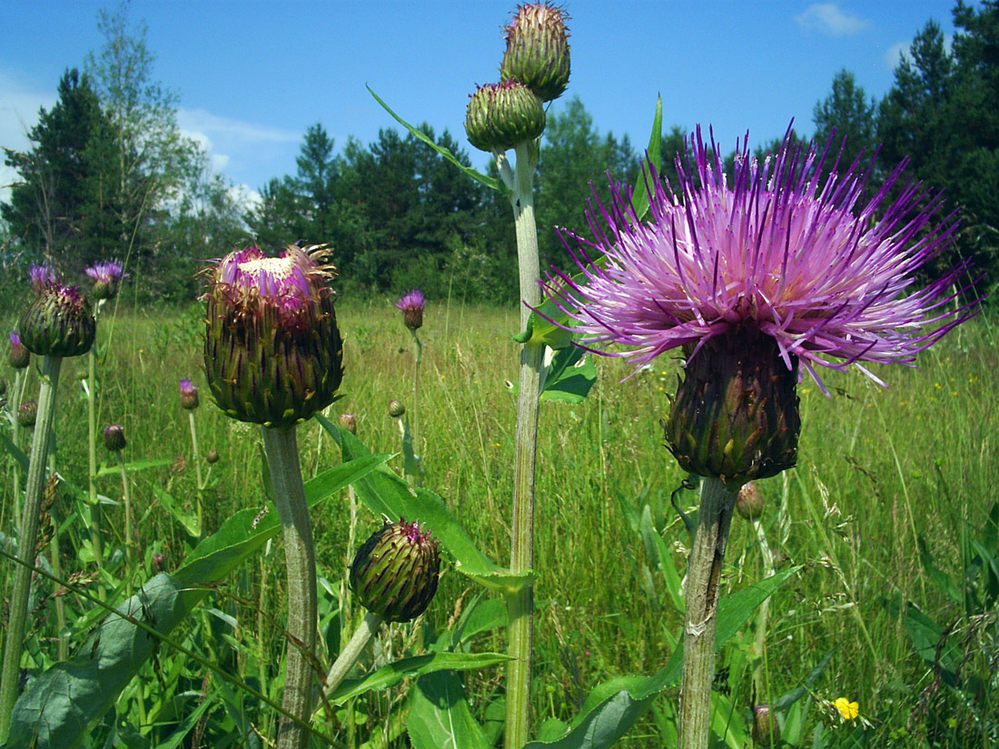
[[[325,251],[293,245],[269,258],[248,247],[210,270],[205,370],[230,416],[290,427],[333,402],[343,342]]]

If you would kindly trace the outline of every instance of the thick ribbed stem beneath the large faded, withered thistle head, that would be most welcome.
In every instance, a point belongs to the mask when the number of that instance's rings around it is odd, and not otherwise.
[[[299,464],[295,427],[262,427],[267,464],[271,470],[274,500],[281,516],[288,568],[288,659],[282,707],[308,724],[312,715],[313,664],[316,660],[316,548],[309,505]],[[278,749],[306,749],[309,730],[282,716]]]

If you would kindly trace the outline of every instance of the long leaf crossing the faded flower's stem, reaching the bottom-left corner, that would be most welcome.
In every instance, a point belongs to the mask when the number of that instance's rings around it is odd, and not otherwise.
[[[389,457],[369,454],[307,481],[310,507],[360,480]],[[199,543],[174,573],[156,575],[115,607],[75,657],[44,671],[21,695],[14,706],[9,746],[75,746],[115,703],[157,644],[156,637],[136,622],[168,635],[208,595],[211,583],[223,579],[280,529],[276,510],[240,510]]]

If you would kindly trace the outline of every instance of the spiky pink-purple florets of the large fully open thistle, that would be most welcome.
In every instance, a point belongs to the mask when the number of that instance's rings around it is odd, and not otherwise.
[[[819,153],[785,138],[762,162],[747,142],[748,134],[729,187],[719,149],[698,128],[693,163],[689,154],[677,159],[676,192],[652,172],[649,222],[639,223],[627,192],[612,185],[610,205],[587,213],[593,239],[569,234],[581,277],[553,269],[542,286],[574,320],[582,346],[640,368],[677,347],[689,361],[712,339],[752,330],[775,342],[788,370],[799,358],[826,391],[815,365],[855,365],[883,384],[859,363],[911,364],[977,313],[948,309],[964,265],[912,291],[913,275],[955,224],[930,225],[942,198],[903,183],[904,164],[864,204],[870,168],[859,159],[822,184],[831,140]],[[612,344],[629,351],[607,351]]]

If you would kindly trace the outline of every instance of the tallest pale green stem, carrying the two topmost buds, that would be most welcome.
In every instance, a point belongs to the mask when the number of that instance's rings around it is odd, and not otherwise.
[[[540,304],[537,230],[534,226],[532,182],[537,144],[516,147],[516,171],[510,203],[516,227],[520,274],[520,330],[526,330],[528,307]],[[528,342],[520,350],[520,382],[516,403],[516,443],[513,455],[513,514],[510,524],[510,571],[534,564],[534,466],[537,457],[537,402],[541,387],[544,345]],[[519,749],[530,732],[530,666],[533,649],[534,589],[525,585],[506,596],[508,649],[506,666],[506,749]]]

